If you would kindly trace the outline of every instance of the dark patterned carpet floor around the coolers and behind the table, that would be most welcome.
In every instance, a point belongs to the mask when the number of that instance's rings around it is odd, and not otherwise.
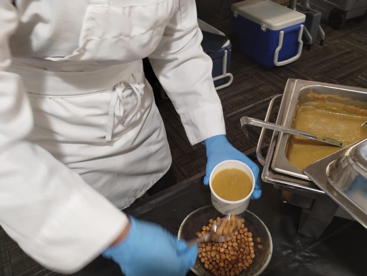
[[[234,80],[230,87],[219,90],[218,95],[223,105],[228,140],[241,151],[256,145],[260,129],[253,128],[246,138],[240,128],[240,118],[263,119],[270,99],[283,92],[288,78],[367,87],[367,22],[347,22],[340,30],[323,24],[326,33],[323,46],[315,44],[310,51],[304,49],[296,62],[271,70],[263,69],[241,54],[229,20],[216,23],[214,27],[226,33],[233,45],[230,72]],[[158,106],[178,180],[203,172],[206,165],[204,146],[190,146],[170,100],[160,100]],[[0,228],[0,276],[57,275],[24,254]]]

